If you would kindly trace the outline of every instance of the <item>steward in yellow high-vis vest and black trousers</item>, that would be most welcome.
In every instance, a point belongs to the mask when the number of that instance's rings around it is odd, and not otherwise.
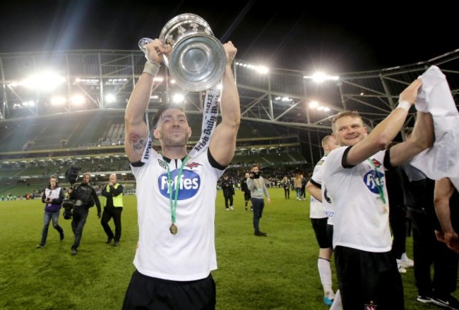
[[[121,212],[123,211],[123,185],[117,181],[117,175],[110,175],[109,183],[102,189],[102,196],[106,197],[104,211],[102,212],[102,220],[100,223],[107,234],[107,244],[112,243],[116,247],[121,238]],[[115,233],[108,225],[110,219],[113,218],[115,225]]]

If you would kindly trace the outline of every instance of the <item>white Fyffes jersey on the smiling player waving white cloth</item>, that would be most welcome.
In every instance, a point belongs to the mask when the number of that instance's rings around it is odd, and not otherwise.
[[[335,206],[333,247],[340,245],[367,252],[391,251],[389,202],[383,166],[386,151],[379,151],[356,166],[344,168],[342,159],[347,149],[340,147],[330,152],[322,166],[322,191]]]

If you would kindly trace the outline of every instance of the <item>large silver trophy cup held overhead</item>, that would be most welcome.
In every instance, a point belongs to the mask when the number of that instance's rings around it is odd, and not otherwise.
[[[164,63],[182,89],[201,92],[222,80],[225,49],[203,18],[191,13],[176,16],[162,28],[159,39],[172,48],[168,56],[163,56]],[[151,41],[143,38],[138,46],[145,51],[145,44]]]

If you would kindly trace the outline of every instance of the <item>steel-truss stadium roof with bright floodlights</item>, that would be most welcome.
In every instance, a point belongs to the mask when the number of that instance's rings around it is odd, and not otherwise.
[[[297,130],[302,132],[306,144],[320,149],[321,137],[330,132],[330,119],[335,113],[344,109],[357,110],[369,128],[373,128],[392,111],[400,92],[429,66],[438,66],[446,75],[457,103],[458,57],[459,49],[456,49],[406,66],[340,73],[338,80],[320,84],[307,78],[311,73],[269,68],[268,73],[263,74],[256,70],[256,64],[237,59],[234,62],[234,75],[241,101],[242,120],[269,123],[285,128],[285,132]],[[143,71],[144,63],[141,51],[80,50],[0,54],[3,84],[0,123],[87,109],[123,111]],[[28,88],[25,80],[42,70],[52,70],[63,77],[61,85],[52,90]],[[172,100],[172,96],[179,92],[185,97],[187,113],[202,113],[203,92],[185,93],[178,89],[168,76],[165,66],[162,66],[158,77],[162,77],[162,80],[155,82],[150,111],[156,111],[160,104]],[[43,79],[49,80],[51,77],[38,77],[38,81]],[[71,103],[71,98],[76,94],[83,97],[79,106]],[[56,95],[63,98],[61,105],[52,104]],[[109,95],[112,95],[112,99],[109,99]],[[319,105],[329,111],[311,109],[309,103],[312,100],[318,101]],[[405,127],[412,126],[414,116],[412,113]]]

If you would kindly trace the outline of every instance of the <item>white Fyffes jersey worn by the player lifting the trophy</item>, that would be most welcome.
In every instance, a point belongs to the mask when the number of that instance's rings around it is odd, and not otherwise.
[[[207,151],[188,159],[179,181],[175,222],[178,233],[172,235],[167,162],[151,151],[148,163],[131,166],[137,180],[139,230],[133,263],[140,273],[154,278],[175,281],[205,278],[217,269],[215,197],[217,180],[225,170],[210,165]],[[180,167],[180,159],[169,163],[174,188]]]

